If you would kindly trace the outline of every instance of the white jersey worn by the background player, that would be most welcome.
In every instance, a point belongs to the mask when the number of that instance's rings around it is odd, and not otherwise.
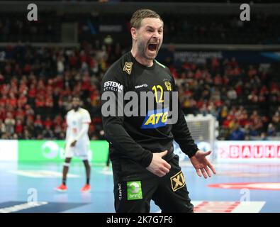
[[[77,135],[82,130],[82,124],[84,123],[91,123],[91,117],[89,115],[89,111],[86,109],[79,108],[77,111],[72,109],[68,111],[66,116],[67,122],[67,133],[66,133],[66,140],[69,143],[72,143],[73,140],[77,140]],[[88,133],[84,133],[79,140],[81,141],[89,141]]]

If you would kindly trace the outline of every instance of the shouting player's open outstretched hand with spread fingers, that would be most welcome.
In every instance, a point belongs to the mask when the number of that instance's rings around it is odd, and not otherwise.
[[[194,165],[194,168],[196,169],[196,173],[199,177],[203,177],[206,179],[207,175],[211,177],[211,171],[215,175],[215,168],[213,165],[206,159],[206,156],[210,155],[211,151],[203,152],[202,150],[198,150],[196,152],[196,155],[191,157],[191,164]],[[209,170],[210,168],[210,170]]]

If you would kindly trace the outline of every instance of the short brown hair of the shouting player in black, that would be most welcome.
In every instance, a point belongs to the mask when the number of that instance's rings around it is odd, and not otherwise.
[[[139,29],[141,27],[142,20],[145,18],[159,18],[160,21],[162,21],[162,18],[155,11],[152,11],[151,9],[138,9],[138,11],[133,13],[133,16],[130,19],[131,28]]]

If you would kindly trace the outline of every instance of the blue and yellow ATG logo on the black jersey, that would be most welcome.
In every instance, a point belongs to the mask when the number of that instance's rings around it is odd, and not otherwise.
[[[166,126],[168,109],[155,109],[147,112],[141,128],[159,128]]]

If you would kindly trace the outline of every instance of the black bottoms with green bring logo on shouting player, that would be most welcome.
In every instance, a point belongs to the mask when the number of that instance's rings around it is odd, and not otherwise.
[[[162,212],[191,213],[194,206],[189,199],[179,156],[168,161],[171,169],[164,177],[157,177],[132,160],[113,160],[115,210],[117,213],[150,212],[150,201]]]

